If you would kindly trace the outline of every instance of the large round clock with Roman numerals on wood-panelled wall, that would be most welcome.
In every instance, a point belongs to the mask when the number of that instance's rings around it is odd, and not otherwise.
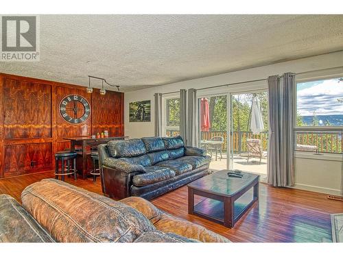
[[[91,106],[80,95],[67,95],[60,102],[60,115],[69,123],[82,123],[91,116]]]

